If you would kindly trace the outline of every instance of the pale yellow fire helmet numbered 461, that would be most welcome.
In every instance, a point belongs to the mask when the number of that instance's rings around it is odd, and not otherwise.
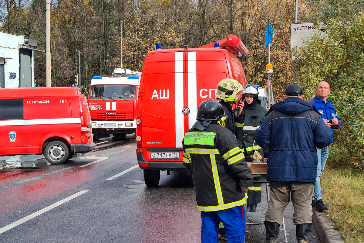
[[[237,94],[243,91],[244,87],[235,79],[225,78],[217,84],[215,97],[225,102],[237,101]]]

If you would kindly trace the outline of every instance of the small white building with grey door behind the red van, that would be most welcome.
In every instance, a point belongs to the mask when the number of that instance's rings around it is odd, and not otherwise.
[[[0,88],[33,87],[36,48],[37,39],[0,31]]]

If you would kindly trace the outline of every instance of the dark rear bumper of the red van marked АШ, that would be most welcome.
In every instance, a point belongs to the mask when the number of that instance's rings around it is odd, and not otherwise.
[[[137,152],[137,160],[139,167],[142,169],[160,170],[160,171],[186,171],[182,161],[146,161],[142,152]],[[141,166],[148,164],[148,166]]]

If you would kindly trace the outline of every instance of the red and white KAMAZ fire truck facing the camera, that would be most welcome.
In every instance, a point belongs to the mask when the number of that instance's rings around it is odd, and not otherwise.
[[[88,106],[94,141],[110,134],[125,138],[126,134],[135,133],[140,75],[141,72],[115,68],[112,77],[91,79]]]

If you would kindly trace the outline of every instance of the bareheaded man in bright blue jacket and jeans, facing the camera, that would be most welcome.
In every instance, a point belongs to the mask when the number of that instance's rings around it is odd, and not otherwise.
[[[341,127],[341,121],[340,117],[337,115],[335,107],[328,99],[330,92],[330,85],[325,81],[320,82],[317,84],[316,88],[317,95],[307,102],[316,107],[316,109],[321,113],[321,117],[324,119],[325,124],[328,125],[333,132],[333,129],[338,129]],[[332,140],[331,142],[334,142],[334,140]],[[328,205],[324,204],[324,202],[322,201],[320,183],[328,156],[329,146],[322,149],[317,148],[317,175],[311,204],[312,207],[315,208],[317,211],[325,211],[326,209],[328,209]]]

